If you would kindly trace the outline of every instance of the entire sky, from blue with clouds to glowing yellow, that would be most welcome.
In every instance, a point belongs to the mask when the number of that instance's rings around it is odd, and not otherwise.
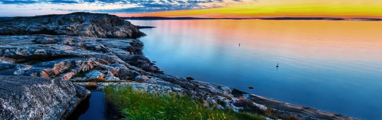
[[[382,18],[382,0],[0,0],[0,16],[71,12],[162,17]]]

